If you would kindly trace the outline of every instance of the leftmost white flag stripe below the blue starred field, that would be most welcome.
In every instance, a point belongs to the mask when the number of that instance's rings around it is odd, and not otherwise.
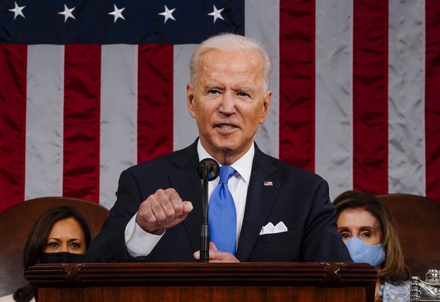
[[[64,46],[29,45],[25,200],[62,195]]]

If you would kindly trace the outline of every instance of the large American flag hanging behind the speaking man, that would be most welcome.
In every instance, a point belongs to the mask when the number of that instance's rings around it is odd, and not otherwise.
[[[219,32],[272,55],[263,151],[323,176],[332,200],[440,201],[438,0],[0,0],[0,23],[0,211],[110,208],[123,169],[191,144],[188,62]]]

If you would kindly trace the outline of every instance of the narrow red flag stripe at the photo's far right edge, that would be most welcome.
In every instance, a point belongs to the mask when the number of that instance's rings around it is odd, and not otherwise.
[[[426,0],[426,196],[440,201],[440,6]]]

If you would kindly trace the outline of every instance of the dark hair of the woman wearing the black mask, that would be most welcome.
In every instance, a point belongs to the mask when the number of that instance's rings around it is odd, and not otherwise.
[[[49,237],[53,225],[56,222],[67,218],[73,218],[80,224],[81,229],[84,231],[86,249],[89,247],[90,242],[93,239],[93,234],[83,213],[71,206],[58,206],[51,208],[38,218],[29,233],[23,257],[25,271],[29,267],[40,262],[40,258],[46,249],[47,238]],[[28,302],[32,297],[33,293],[30,284],[23,286],[14,292],[14,299],[19,302]]]

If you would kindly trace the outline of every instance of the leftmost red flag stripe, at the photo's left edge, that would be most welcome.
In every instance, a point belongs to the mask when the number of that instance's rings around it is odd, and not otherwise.
[[[24,201],[27,46],[0,44],[0,212]]]

